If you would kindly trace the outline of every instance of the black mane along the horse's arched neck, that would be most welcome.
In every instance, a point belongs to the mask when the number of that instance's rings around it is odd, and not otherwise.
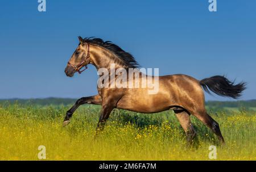
[[[135,60],[135,58],[130,53],[123,51],[122,48],[113,44],[111,41],[104,41],[100,38],[86,37],[84,39],[84,43],[96,44],[96,45],[100,45],[101,47],[108,49],[110,52],[114,53],[124,63],[124,65],[127,68],[138,68],[139,67],[138,62]]]

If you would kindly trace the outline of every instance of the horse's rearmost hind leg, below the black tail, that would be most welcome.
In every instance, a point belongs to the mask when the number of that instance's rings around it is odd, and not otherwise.
[[[218,123],[212,117],[210,117],[210,115],[207,114],[207,112],[195,113],[193,115],[195,115],[196,118],[198,118],[205,125],[207,125],[207,127],[212,129],[213,133],[215,135],[217,135],[217,137],[221,141],[221,143],[225,144],[224,138],[223,138],[223,136],[221,134],[221,131],[220,131],[220,126],[218,125]]]

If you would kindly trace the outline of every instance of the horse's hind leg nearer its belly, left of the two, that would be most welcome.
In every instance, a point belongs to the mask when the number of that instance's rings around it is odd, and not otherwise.
[[[181,127],[184,129],[188,144],[193,143],[196,131],[191,123],[190,115],[185,110],[174,110]]]

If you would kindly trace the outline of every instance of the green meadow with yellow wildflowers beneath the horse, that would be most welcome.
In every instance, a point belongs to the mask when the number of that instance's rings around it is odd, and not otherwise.
[[[248,108],[211,108],[226,145],[192,116],[197,139],[187,146],[185,133],[172,111],[139,114],[114,110],[104,132],[94,140],[100,106],[81,106],[71,123],[62,122],[69,105],[0,105],[0,160],[209,160],[209,146],[217,146],[217,160],[256,160],[256,112]]]

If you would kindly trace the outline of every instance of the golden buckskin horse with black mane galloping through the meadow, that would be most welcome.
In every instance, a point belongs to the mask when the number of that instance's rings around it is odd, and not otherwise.
[[[87,68],[88,64],[94,65],[97,70],[101,68],[110,70],[111,64],[115,64],[115,70],[118,68],[128,70],[139,66],[131,54],[123,51],[112,42],[98,38],[82,39],[80,36],[79,41],[79,46],[68,61],[67,68],[65,68],[68,77],[73,77],[76,72],[81,73]],[[84,67],[85,69],[81,70]],[[127,77],[128,80],[129,75]],[[116,76],[114,79],[117,79]],[[139,75],[139,79],[142,79],[142,74]],[[224,143],[218,123],[205,110],[203,90],[207,93],[212,91],[217,95],[237,99],[245,90],[245,83],[241,82],[235,85],[234,82],[219,75],[199,81],[188,75],[175,74],[159,77],[158,93],[148,94],[148,90],[148,87],[98,87],[98,95],[80,98],[67,111],[63,127],[70,123],[76,109],[85,103],[102,106],[96,131],[101,131],[104,128],[104,124],[114,108],[146,114],[174,110],[189,143],[196,135],[190,119],[191,114],[212,129],[218,139]]]

